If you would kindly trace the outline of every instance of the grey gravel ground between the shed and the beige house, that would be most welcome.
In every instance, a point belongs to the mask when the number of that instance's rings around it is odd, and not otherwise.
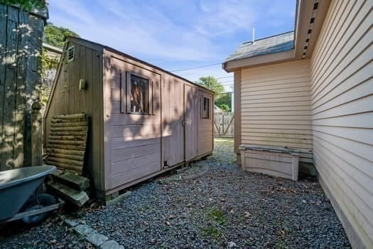
[[[197,163],[209,169],[198,179],[168,181],[166,174],[134,187],[116,206],[72,215],[125,248],[350,248],[317,181],[241,171],[232,147],[230,139],[215,139],[212,157]],[[0,245],[88,246],[59,222],[0,235]]]

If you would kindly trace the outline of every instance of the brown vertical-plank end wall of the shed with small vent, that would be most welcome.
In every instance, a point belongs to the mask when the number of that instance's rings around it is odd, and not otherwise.
[[[88,46],[86,46],[88,45]],[[104,188],[104,131],[102,97],[102,48],[90,43],[70,41],[65,49],[74,46],[75,58],[67,62],[66,50],[53,84],[45,110],[45,148],[48,149],[50,122],[55,115],[87,113],[90,121],[85,156],[85,169],[92,176],[97,189]],[[84,79],[86,89],[79,90],[79,81]]]

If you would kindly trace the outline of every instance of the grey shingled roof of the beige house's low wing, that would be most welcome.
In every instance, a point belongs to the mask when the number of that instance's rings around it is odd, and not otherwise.
[[[281,33],[276,36],[269,36],[259,40],[242,43],[241,46],[234,51],[232,55],[225,60],[240,60],[250,58],[258,55],[266,55],[269,53],[276,53],[288,51],[294,48],[294,31]]]

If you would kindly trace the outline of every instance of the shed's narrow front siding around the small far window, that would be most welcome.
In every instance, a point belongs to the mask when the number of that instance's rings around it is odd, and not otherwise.
[[[209,100],[209,118],[202,118],[203,111],[203,98],[207,97]],[[210,92],[206,92],[202,89],[198,90],[198,155],[207,154],[212,152],[213,147],[213,122],[214,122],[214,100]]]

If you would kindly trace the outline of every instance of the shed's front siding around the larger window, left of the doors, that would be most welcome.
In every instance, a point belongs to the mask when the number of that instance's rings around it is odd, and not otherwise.
[[[110,51],[104,52],[105,189],[161,171],[161,74]],[[129,112],[129,73],[149,80],[149,115]]]

